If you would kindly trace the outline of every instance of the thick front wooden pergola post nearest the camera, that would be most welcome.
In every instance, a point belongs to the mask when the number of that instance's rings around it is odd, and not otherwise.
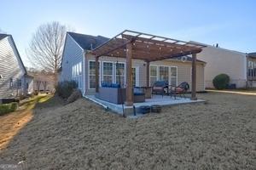
[[[132,68],[131,68],[131,59],[132,59],[132,47],[131,43],[126,44],[126,100],[125,105],[131,106],[133,105],[132,100]]]

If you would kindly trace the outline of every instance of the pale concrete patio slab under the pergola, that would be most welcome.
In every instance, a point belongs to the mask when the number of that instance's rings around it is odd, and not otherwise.
[[[115,113],[123,114],[123,105],[116,105],[113,103],[109,103],[108,101],[104,101],[102,99],[97,99],[94,95],[85,95],[86,99],[90,99],[91,101],[104,106],[106,109],[109,109]],[[170,96],[161,96],[161,95],[152,95],[151,99],[146,99],[143,103],[134,103],[133,105],[136,108],[139,108],[142,105],[161,105],[161,106],[170,106],[170,105],[184,105],[184,104],[195,104],[205,102],[203,99],[191,100],[189,98],[180,98],[177,97],[174,99]],[[133,115],[133,106],[125,106],[124,112],[126,116]]]

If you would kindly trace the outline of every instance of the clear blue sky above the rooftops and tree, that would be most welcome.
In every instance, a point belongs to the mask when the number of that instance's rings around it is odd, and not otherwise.
[[[113,37],[130,29],[159,36],[217,43],[221,48],[256,51],[256,1],[79,1],[1,0],[0,29],[12,34],[21,58],[32,33],[57,20],[75,31]]]

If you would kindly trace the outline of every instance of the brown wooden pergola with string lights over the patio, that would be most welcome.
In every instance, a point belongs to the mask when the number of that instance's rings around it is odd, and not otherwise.
[[[96,93],[99,92],[99,58],[101,56],[126,59],[126,99],[125,105],[133,105],[131,60],[143,59],[147,65],[147,86],[149,87],[150,62],[162,59],[172,59],[192,54],[192,86],[191,99],[196,99],[196,54],[205,46],[194,42],[154,36],[143,32],[125,30],[117,36],[102,43],[90,52],[96,57]]]

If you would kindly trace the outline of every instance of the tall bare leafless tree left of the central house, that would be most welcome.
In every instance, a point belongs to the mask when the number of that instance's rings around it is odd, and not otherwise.
[[[53,72],[55,83],[57,82],[57,71],[61,66],[66,32],[67,26],[56,21],[41,25],[33,34],[27,49],[27,57],[32,65],[41,70]]]

